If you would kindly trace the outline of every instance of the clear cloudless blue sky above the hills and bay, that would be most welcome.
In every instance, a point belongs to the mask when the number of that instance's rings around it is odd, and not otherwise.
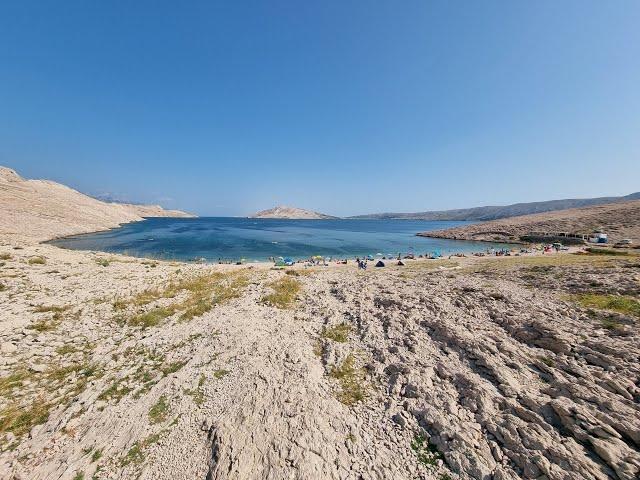
[[[640,1],[6,1],[0,164],[203,215],[640,190]]]

